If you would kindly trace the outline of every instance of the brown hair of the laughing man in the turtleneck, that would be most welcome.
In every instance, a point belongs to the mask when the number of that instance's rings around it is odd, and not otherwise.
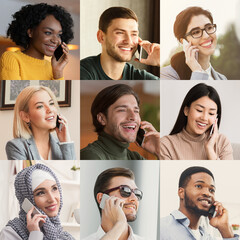
[[[104,126],[97,120],[97,115],[103,113],[107,117],[108,108],[124,95],[133,95],[139,106],[138,95],[126,84],[115,84],[106,87],[97,94],[92,103],[91,114],[95,131],[98,134],[103,131]]]

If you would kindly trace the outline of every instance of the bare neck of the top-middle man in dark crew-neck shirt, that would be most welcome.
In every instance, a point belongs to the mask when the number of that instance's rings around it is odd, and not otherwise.
[[[105,74],[113,80],[122,79],[125,62],[116,61],[106,52],[102,52],[100,56],[100,63]]]

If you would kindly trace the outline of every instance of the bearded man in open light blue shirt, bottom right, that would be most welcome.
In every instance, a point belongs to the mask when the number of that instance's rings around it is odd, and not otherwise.
[[[161,240],[219,239],[201,224],[201,216],[209,218],[210,225],[218,229],[223,239],[239,239],[233,234],[227,209],[215,201],[215,181],[210,170],[199,166],[187,168],[178,185],[180,206],[170,216],[160,219]]]

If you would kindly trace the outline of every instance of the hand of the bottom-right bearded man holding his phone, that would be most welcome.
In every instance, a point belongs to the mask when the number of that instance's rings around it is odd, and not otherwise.
[[[220,231],[223,238],[232,238],[234,234],[229,225],[227,209],[217,201],[214,202],[214,206],[216,206],[217,215],[214,218],[209,217],[209,223]]]

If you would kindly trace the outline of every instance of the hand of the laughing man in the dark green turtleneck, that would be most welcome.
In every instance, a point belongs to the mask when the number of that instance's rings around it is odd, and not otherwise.
[[[160,159],[160,133],[147,121],[141,122],[141,128],[147,130],[142,147]]]

